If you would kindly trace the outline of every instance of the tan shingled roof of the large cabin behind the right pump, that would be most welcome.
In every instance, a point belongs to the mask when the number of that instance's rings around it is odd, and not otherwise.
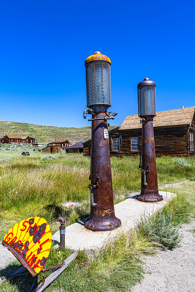
[[[176,125],[191,125],[194,116],[195,107],[186,107],[184,109],[171,109],[163,112],[156,112],[153,126],[176,126]],[[140,117],[138,114],[127,116],[120,126],[120,130],[141,128]]]

